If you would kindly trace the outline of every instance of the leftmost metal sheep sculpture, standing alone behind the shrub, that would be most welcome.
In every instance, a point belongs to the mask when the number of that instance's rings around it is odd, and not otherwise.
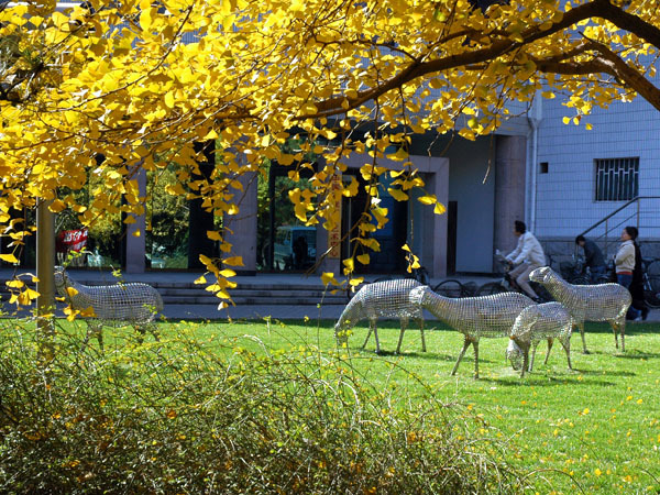
[[[90,333],[96,333],[99,345],[103,349],[102,327],[123,327],[131,324],[140,333],[152,332],[158,340],[156,315],[163,310],[161,294],[147,284],[117,284],[90,287],[69,278],[64,267],[55,267],[55,287],[64,296],[72,309],[85,311],[91,309],[94,316],[84,316],[87,321],[87,334],[82,349],[87,345]]]

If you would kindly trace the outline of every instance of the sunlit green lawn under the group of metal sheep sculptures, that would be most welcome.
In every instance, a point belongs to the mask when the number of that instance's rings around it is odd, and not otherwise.
[[[333,322],[272,321],[200,324],[201,334],[218,332],[237,339],[235,345],[255,352],[311,345],[329,350],[334,344]],[[546,344],[539,344],[535,371],[519,378],[505,362],[506,339],[482,339],[480,380],[473,378],[474,354],[465,354],[455,376],[450,372],[462,345],[462,334],[427,322],[428,352],[421,352],[418,330],[408,330],[402,355],[395,355],[396,323],[382,324],[383,355],[375,355],[373,336],[356,327],[346,356],[366,380],[386,387],[406,385],[413,399],[424,391],[417,375],[437,398],[466,405],[515,449],[510,459],[529,470],[548,470],[547,493],[659,493],[660,492],[660,328],[657,323],[628,324],[626,353],[615,349],[607,324],[587,323],[583,354],[574,334],[573,371],[556,343],[547,366]],[[250,337],[248,337],[250,336]],[[255,340],[254,338],[257,338]],[[260,343],[260,342],[263,342]],[[389,351],[389,352],[387,352]],[[559,472],[569,473],[571,477]]]

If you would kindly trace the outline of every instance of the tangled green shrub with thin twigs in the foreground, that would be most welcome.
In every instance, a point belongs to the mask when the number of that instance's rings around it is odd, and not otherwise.
[[[42,369],[35,334],[15,321],[0,333],[3,493],[527,488],[480,417],[430,392],[374,389],[336,353],[255,354],[182,323],[103,355],[61,328]]]

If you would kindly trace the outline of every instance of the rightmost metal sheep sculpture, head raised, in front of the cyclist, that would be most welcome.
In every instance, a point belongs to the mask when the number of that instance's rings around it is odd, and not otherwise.
[[[588,351],[584,340],[584,321],[607,321],[614,331],[616,348],[618,349],[620,333],[622,352],[626,351],[626,312],[632,301],[626,287],[619,284],[569,284],[549,266],[536,268],[529,274],[529,279],[542,284],[552,297],[570,311],[580,328],[585,354],[588,354]]]

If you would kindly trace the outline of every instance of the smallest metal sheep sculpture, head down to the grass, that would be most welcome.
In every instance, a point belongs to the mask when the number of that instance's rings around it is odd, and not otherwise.
[[[543,305],[528,306],[514,322],[509,336],[506,356],[510,360],[514,370],[520,370],[520,377],[525,372],[534,369],[534,358],[539,342],[548,339],[548,353],[543,364],[548,364],[553,340],[557,338],[566,351],[569,370],[571,366],[571,333],[574,324],[573,317],[561,302],[546,302]],[[531,348],[531,360],[529,359]]]

